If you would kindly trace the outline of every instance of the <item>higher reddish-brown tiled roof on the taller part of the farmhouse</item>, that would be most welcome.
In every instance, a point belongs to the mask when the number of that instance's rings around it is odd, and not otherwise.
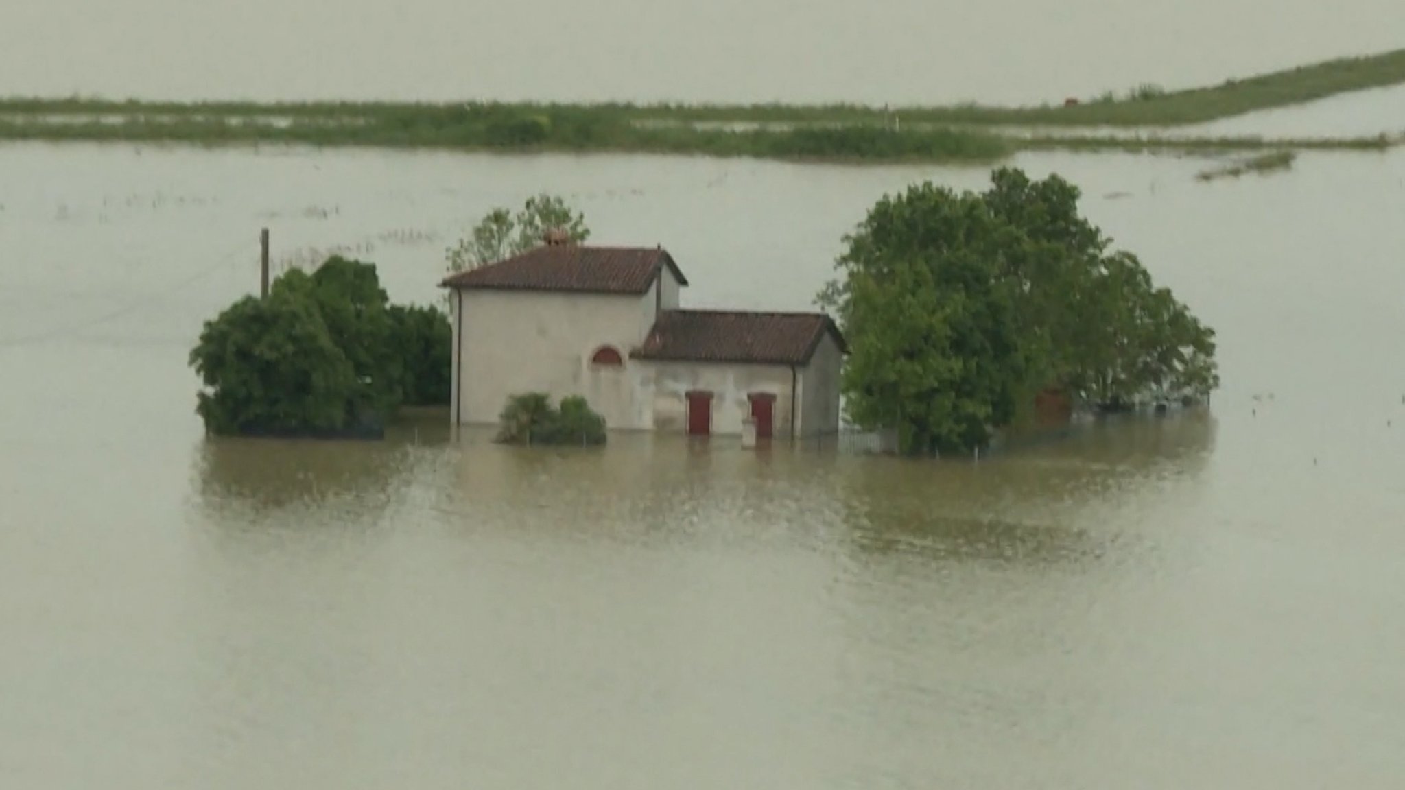
[[[667,267],[680,285],[688,281],[662,247],[590,247],[544,245],[507,260],[445,277],[445,288],[643,294]]]

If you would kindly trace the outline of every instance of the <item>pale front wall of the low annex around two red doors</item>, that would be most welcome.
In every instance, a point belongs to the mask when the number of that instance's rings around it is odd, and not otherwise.
[[[712,392],[712,434],[740,434],[742,419],[750,416],[750,392],[776,395],[774,436],[788,437],[791,429],[791,368],[788,365],[635,363],[648,365],[641,375],[652,392],[652,427],[663,433],[687,433],[687,392]]]

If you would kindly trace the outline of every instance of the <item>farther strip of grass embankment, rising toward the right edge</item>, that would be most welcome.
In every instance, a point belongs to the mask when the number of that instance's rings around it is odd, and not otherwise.
[[[1257,110],[1304,104],[1340,93],[1405,83],[1405,49],[1340,58],[1214,87],[1163,91],[1141,86],[1123,97],[1104,94],[1076,105],[901,107],[896,110],[853,104],[828,105],[686,105],[686,104],[405,104],[405,103],[143,103],[103,98],[0,98],[8,115],[177,115],[320,118],[327,122],[360,119],[377,125],[438,125],[445,117],[514,115],[575,117],[582,122],[621,127],[639,121],[784,122],[784,124],[891,124],[1023,125],[1023,127],[1175,127],[1200,124]]]

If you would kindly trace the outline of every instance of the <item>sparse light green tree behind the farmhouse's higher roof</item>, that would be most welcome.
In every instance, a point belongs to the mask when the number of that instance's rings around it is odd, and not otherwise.
[[[558,195],[527,198],[517,214],[507,208],[489,211],[473,231],[445,252],[450,274],[478,268],[524,253],[542,243],[547,231],[559,229],[573,243],[590,238],[586,216]]]

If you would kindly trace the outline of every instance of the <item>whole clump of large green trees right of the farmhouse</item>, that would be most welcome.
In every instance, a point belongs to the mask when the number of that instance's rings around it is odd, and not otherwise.
[[[1214,332],[1078,198],[1000,169],[985,193],[924,183],[878,201],[819,297],[849,337],[850,419],[895,427],[908,453],[968,453],[1041,391],[1118,410],[1218,387]]]

